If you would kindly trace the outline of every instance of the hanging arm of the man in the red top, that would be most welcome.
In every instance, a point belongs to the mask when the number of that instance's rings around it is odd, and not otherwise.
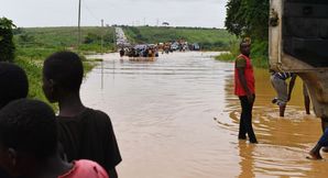
[[[249,102],[253,102],[254,98],[251,93],[250,89],[248,88],[247,80],[244,77],[244,68],[245,68],[245,59],[244,58],[238,58],[236,62],[236,68],[238,71],[239,81],[241,84],[241,87],[247,92]]]

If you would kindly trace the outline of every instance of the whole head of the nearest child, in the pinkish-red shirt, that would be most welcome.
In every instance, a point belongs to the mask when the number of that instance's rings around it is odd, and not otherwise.
[[[56,116],[46,103],[19,99],[0,110],[0,166],[10,175],[54,156],[57,142]]]

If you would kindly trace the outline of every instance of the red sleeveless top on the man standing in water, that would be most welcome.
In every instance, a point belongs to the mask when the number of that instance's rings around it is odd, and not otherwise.
[[[237,60],[243,60],[243,59],[245,60],[244,78],[247,80],[247,86],[251,93],[255,93],[255,79],[254,79],[253,66],[252,66],[251,59],[248,56],[242,54],[240,54],[237,57]],[[236,66],[234,66],[234,94],[247,96],[247,92],[242,88],[241,82],[239,80],[239,75]]]

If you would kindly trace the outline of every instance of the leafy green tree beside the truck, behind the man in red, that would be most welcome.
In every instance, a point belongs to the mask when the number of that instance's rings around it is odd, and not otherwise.
[[[251,37],[251,57],[255,67],[267,68],[269,53],[269,0],[228,0],[226,27],[238,38]],[[234,46],[238,46],[239,42]],[[231,58],[239,54],[238,48],[230,48]],[[230,58],[227,54],[217,58]]]

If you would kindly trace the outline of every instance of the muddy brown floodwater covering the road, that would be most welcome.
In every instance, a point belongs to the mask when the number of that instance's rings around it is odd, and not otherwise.
[[[280,118],[269,73],[255,69],[259,144],[249,144],[237,138],[233,64],[214,60],[216,54],[164,54],[154,62],[91,56],[103,62],[87,75],[81,97],[111,118],[120,178],[327,177],[326,160],[305,158],[320,120],[305,114],[300,78]]]

